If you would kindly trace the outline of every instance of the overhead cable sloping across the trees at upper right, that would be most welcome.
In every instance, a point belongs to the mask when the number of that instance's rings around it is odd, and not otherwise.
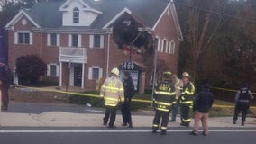
[[[230,15],[230,14],[224,14],[224,13],[219,13],[219,12],[207,10],[207,9],[200,8],[200,7],[197,7],[197,6],[194,6],[194,5],[190,5],[190,4],[184,4],[184,3],[179,3],[179,2],[170,2],[170,3],[179,4],[179,5],[183,5],[183,6],[186,6],[186,7],[194,8],[194,9],[197,9],[199,11],[206,12],[206,13],[223,15],[223,16],[229,17],[231,19],[237,19],[237,20],[244,21],[244,22],[247,22],[247,23],[255,23],[256,24],[256,21],[253,21],[253,20],[248,20],[248,19],[245,19],[245,18],[242,18],[242,17],[233,16],[233,15]]]

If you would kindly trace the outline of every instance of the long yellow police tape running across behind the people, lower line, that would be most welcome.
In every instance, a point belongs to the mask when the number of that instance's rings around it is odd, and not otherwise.
[[[19,87],[19,88],[28,88],[36,91],[41,92],[54,92],[59,94],[74,94],[74,95],[80,95],[80,96],[87,96],[87,97],[96,97],[96,98],[102,98],[102,96],[97,94],[85,94],[85,93],[76,93],[76,92],[67,92],[67,91],[61,91],[61,90],[53,90],[49,88],[37,88],[37,87],[29,87],[29,86],[23,86],[23,85],[12,85],[13,87]],[[151,100],[143,100],[143,99],[132,99],[133,102],[139,102],[139,103],[152,103]],[[233,105],[219,105],[214,104],[213,107],[215,108],[233,108]],[[256,109],[256,106],[251,106],[251,109]]]

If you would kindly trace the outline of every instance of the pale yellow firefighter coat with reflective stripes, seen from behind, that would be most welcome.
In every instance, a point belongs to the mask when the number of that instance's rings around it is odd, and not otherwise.
[[[121,80],[116,76],[105,79],[101,87],[101,96],[104,97],[105,106],[115,107],[119,102],[123,102],[123,83]]]

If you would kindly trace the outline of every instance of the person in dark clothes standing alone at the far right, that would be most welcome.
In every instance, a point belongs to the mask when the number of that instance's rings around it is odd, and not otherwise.
[[[242,88],[235,94],[235,108],[233,114],[233,124],[236,124],[237,117],[239,112],[242,111],[242,126],[246,119],[247,112],[249,110],[249,101],[253,99],[251,91],[247,88],[246,85],[242,85]]]

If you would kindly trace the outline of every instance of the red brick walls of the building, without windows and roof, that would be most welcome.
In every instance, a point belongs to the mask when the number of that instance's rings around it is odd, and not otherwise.
[[[21,19],[23,20],[23,18]],[[26,25],[22,25],[21,21],[14,25],[14,31],[31,31],[32,32],[32,23],[27,20]],[[8,31],[8,44],[9,44],[9,65],[14,68],[15,59],[20,56],[27,54],[36,54],[42,56],[46,63],[57,63],[59,64],[59,47],[47,46],[47,33],[33,32],[33,44],[32,45],[21,45],[14,44],[14,31]],[[59,34],[59,33],[57,33]],[[79,33],[78,33],[79,34]],[[159,52],[159,58],[164,59],[169,69],[173,72],[177,72],[178,67],[178,34],[175,29],[175,25],[172,19],[171,14],[164,14],[160,23],[155,28],[155,34],[160,37],[160,47],[161,40],[166,38],[169,41],[175,41],[175,54],[167,54]],[[60,34],[60,46],[68,46],[68,35],[69,34]],[[42,36],[42,37],[41,37]],[[92,66],[98,66],[103,68],[103,76],[106,76],[106,65],[107,65],[107,48],[108,48],[108,35],[105,34],[104,40],[104,49],[90,49],[89,48],[89,34],[82,34],[82,47],[87,48],[87,64],[85,65],[85,88],[86,90],[93,90],[96,87],[95,80],[88,80],[88,68]],[[42,48],[42,49],[40,49]],[[41,53],[42,50],[42,53]],[[121,63],[129,60],[129,54],[125,55],[123,50],[118,49],[112,35],[110,35],[110,55],[109,55],[109,72],[112,68],[119,66]],[[133,55],[132,60],[142,62],[140,55]],[[63,63],[62,69],[62,85],[66,85],[67,76],[69,72],[67,69],[67,63]],[[146,74],[147,75],[147,74]],[[49,78],[47,78],[49,79]],[[51,78],[50,78],[51,79]],[[56,81],[59,81],[58,78],[53,78]]]

